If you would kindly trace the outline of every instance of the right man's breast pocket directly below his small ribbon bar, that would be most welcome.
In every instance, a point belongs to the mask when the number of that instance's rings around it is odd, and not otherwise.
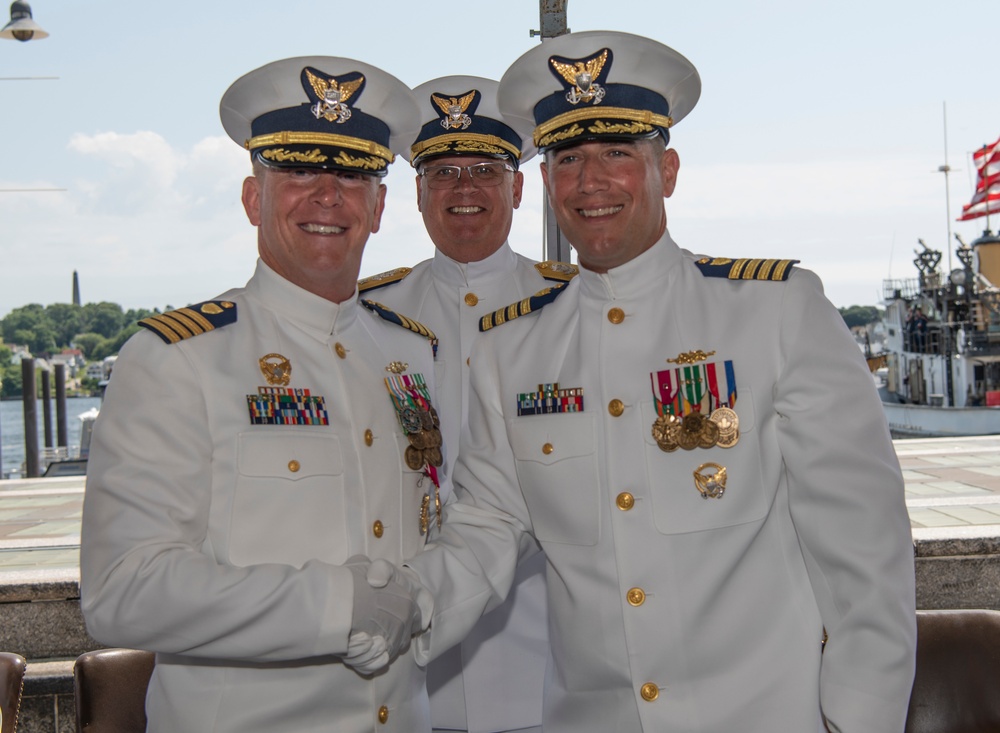
[[[540,542],[595,545],[601,535],[596,434],[587,413],[507,423],[524,501]]]

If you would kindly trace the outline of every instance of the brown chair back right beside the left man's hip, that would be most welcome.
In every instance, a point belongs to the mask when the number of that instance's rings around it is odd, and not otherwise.
[[[98,649],[73,665],[77,733],[144,733],[146,688],[156,656],[138,649]]]

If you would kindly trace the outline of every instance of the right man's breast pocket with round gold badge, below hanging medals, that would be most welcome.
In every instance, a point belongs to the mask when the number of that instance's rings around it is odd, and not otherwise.
[[[656,407],[642,403],[645,433],[646,477],[653,505],[653,522],[663,534],[700,532],[756,522],[767,515],[769,500],[764,489],[759,431],[755,430],[753,395],[742,388],[736,404],[740,438],[731,448],[660,449],[653,439]],[[705,497],[698,490],[695,472],[716,473],[715,464],[725,469],[725,491],[719,498]],[[700,470],[699,470],[700,469]]]

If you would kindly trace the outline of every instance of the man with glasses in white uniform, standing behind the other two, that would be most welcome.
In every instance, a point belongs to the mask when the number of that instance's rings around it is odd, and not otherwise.
[[[521,203],[520,164],[534,155],[503,122],[497,82],[471,76],[434,79],[414,89],[423,127],[410,149],[417,207],[434,257],[411,269],[366,278],[364,297],[426,324],[440,340],[435,360],[438,412],[449,471],[466,424],[469,356],[479,323],[512,301],[575,268],[534,263],[507,243]],[[377,290],[376,290],[377,288]],[[548,657],[545,558],[518,568],[507,601],[427,670],[435,730],[470,733],[539,731]]]

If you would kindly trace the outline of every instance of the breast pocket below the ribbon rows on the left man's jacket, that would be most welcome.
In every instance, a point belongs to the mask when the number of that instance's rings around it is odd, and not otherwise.
[[[335,435],[295,428],[242,433],[237,462],[231,562],[301,567],[347,559],[344,466]]]

